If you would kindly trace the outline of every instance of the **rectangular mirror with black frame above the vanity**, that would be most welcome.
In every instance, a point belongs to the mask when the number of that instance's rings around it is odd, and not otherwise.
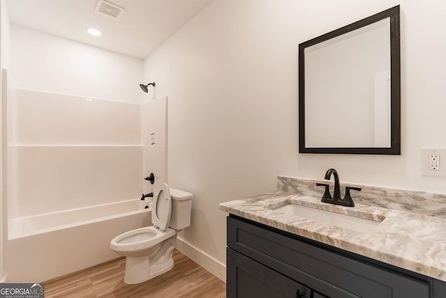
[[[299,152],[401,154],[399,6],[299,45]]]

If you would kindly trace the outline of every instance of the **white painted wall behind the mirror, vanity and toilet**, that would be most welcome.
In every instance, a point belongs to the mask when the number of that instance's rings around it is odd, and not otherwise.
[[[298,44],[401,4],[401,156],[298,154]],[[144,61],[169,94],[168,181],[194,193],[184,240],[225,260],[218,204],[275,191],[277,174],[446,193],[420,147],[446,147],[443,0],[213,1]],[[201,261],[205,264],[205,261]],[[223,277],[224,278],[224,277]]]

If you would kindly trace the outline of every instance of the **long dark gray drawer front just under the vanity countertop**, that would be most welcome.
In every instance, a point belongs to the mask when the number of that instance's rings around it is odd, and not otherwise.
[[[228,246],[328,297],[429,298],[429,284],[238,218]]]

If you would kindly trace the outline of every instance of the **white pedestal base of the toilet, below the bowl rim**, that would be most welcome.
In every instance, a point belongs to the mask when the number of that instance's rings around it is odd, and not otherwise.
[[[174,268],[175,244],[176,234],[154,246],[146,255],[125,258],[125,283],[142,283]]]

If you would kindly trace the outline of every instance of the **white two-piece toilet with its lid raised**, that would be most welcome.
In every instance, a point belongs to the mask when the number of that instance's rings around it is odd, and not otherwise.
[[[172,253],[176,234],[190,225],[192,193],[169,188],[155,189],[153,225],[120,234],[112,239],[112,251],[125,256],[125,283],[142,283],[174,267]]]

